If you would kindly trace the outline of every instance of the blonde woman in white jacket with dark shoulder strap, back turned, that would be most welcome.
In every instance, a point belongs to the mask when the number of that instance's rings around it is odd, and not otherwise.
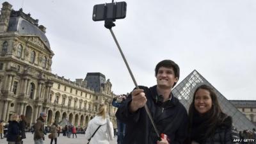
[[[91,144],[109,144],[109,141],[113,140],[113,124],[110,122],[109,118],[107,118],[106,109],[107,108],[104,104],[100,104],[99,112],[88,124],[85,132],[85,138],[87,140],[91,139]],[[98,127],[99,129],[97,130]],[[95,134],[92,137],[94,132]]]

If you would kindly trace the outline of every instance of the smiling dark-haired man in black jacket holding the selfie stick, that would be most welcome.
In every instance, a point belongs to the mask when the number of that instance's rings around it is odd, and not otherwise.
[[[172,88],[179,80],[179,66],[172,60],[156,65],[157,85],[140,86],[127,97],[124,106],[118,108],[116,117],[126,124],[124,144],[181,144],[186,139],[188,113]],[[166,139],[157,137],[154,127],[143,108],[147,104],[156,128]]]

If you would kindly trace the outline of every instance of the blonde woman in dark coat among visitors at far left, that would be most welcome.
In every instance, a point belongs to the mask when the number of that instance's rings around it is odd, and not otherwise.
[[[7,141],[8,144],[20,144],[20,124],[18,122],[19,116],[13,114],[11,120],[8,122],[8,132],[7,132]]]

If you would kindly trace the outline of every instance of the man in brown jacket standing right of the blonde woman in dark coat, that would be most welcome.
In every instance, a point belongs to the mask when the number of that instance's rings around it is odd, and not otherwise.
[[[35,144],[44,144],[44,122],[46,120],[46,113],[40,113],[39,118],[36,120],[35,124],[35,133],[34,133],[34,141]]]

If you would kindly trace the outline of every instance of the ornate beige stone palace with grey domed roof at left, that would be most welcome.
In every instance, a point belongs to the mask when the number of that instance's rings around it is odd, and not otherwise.
[[[0,120],[8,122],[13,113],[25,115],[28,124],[36,122],[42,111],[47,125],[63,118],[77,127],[86,127],[99,104],[108,106],[116,125],[116,108],[111,83],[100,73],[70,81],[51,73],[52,57],[45,27],[30,14],[12,10],[4,2],[0,15]]]

